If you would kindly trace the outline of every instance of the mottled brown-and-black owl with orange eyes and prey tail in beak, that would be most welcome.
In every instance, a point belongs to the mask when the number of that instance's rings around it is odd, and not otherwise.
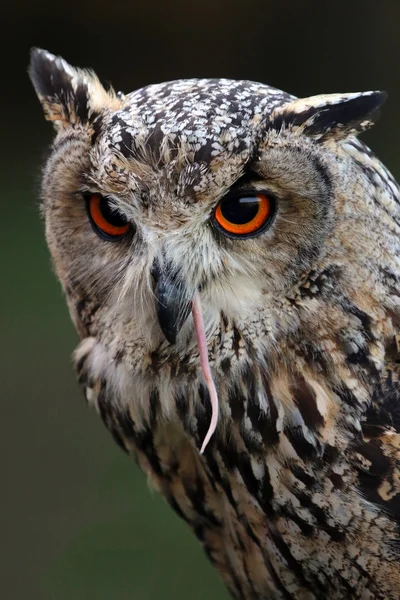
[[[386,95],[29,73],[89,404],[233,598],[400,598],[400,196],[357,137]]]

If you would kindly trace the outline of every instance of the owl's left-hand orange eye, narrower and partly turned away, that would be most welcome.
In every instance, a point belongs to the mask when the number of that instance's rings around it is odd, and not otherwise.
[[[89,194],[86,205],[92,227],[103,239],[119,240],[132,228],[131,223],[104,196]]]

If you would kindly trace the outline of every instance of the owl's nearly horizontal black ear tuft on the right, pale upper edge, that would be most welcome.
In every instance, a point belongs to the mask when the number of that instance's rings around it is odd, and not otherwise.
[[[273,111],[270,127],[296,130],[316,139],[346,138],[369,129],[386,92],[323,94],[289,102]]]

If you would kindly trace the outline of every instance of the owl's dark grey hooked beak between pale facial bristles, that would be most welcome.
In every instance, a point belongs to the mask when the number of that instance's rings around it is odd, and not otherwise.
[[[154,280],[158,323],[167,341],[175,344],[176,337],[189,316],[192,298],[188,295],[182,278],[170,265],[160,266],[156,259],[151,274]]]

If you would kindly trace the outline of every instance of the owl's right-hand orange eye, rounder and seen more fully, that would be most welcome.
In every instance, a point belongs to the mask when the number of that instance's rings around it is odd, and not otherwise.
[[[228,194],[218,204],[214,219],[218,229],[229,237],[253,237],[271,222],[275,203],[266,194]]]

